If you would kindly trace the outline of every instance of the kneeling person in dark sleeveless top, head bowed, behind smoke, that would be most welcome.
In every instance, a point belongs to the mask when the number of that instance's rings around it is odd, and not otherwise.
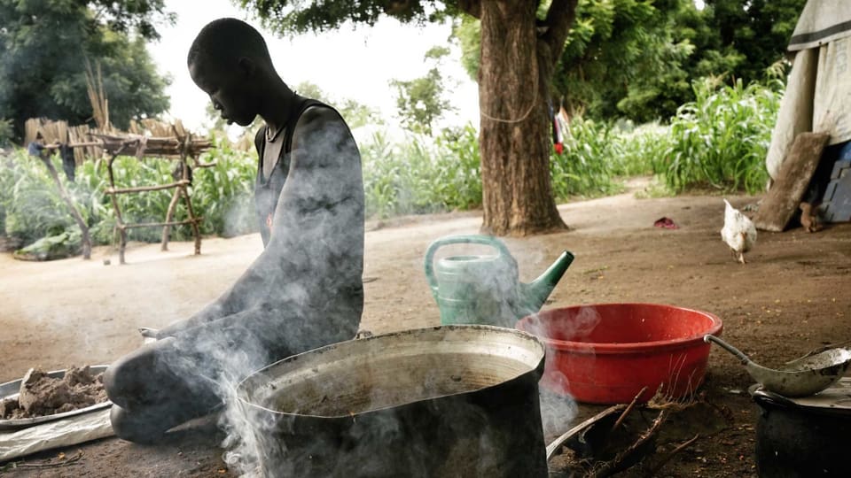
[[[215,410],[262,366],[353,338],[363,312],[363,181],[346,122],[289,89],[238,19],[204,27],[188,66],[229,123],[266,121],[254,187],[265,249],[222,297],[106,371],[113,429],[136,442]]]

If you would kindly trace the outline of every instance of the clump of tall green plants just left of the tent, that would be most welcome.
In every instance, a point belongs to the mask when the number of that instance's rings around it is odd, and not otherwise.
[[[677,192],[709,187],[754,193],[769,178],[765,156],[782,84],[719,83],[717,79],[696,81],[697,99],[683,104],[671,120],[672,143],[654,169]]]

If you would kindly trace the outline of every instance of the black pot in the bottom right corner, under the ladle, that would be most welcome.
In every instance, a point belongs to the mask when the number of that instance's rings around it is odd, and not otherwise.
[[[760,476],[851,476],[851,378],[812,397],[787,398],[758,388],[756,467]]]

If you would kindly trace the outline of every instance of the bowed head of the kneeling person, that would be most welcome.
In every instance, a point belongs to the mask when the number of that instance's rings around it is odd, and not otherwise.
[[[254,27],[217,19],[201,28],[186,59],[192,81],[228,122],[247,126],[260,112],[262,90],[277,78],[269,49]]]

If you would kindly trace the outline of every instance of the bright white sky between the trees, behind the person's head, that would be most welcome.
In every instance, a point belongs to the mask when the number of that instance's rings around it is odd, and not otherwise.
[[[375,27],[344,26],[338,31],[290,39],[262,28],[258,20],[230,0],[206,0],[203,8],[196,2],[167,0],[166,10],[176,13],[176,24],[160,27],[160,41],[149,44],[148,49],[160,73],[171,77],[166,90],[171,97],[168,116],[199,132],[208,123],[209,98],[192,83],[186,53],[195,35],[214,19],[243,19],[260,30],[277,72],[291,88],[309,81],[332,100],[351,98],[379,110],[390,123],[394,122],[396,107],[388,81],[425,75],[431,67],[424,61],[426,50],[449,46],[448,24],[404,26],[394,19],[381,19]],[[447,115],[439,126],[477,125],[479,121],[478,89],[461,67],[460,58],[460,50],[452,46],[449,58],[444,59],[441,73],[453,82],[445,95],[457,112]]]

